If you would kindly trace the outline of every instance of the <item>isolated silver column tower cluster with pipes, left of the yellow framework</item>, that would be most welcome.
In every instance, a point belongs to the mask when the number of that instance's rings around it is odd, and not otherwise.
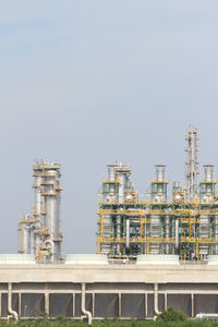
[[[33,167],[35,204],[19,222],[19,253],[35,254],[38,263],[59,263],[61,257],[60,165],[37,161]]]

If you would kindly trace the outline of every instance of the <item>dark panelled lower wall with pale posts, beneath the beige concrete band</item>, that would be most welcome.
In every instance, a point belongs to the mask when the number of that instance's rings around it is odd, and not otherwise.
[[[0,283],[0,317],[7,318],[7,284]],[[81,284],[59,282],[12,283],[12,308],[21,317],[39,313],[81,318]],[[218,313],[218,286],[207,283],[159,283],[158,311],[169,305],[187,316]],[[86,283],[85,308],[95,318],[154,318],[154,284]]]

